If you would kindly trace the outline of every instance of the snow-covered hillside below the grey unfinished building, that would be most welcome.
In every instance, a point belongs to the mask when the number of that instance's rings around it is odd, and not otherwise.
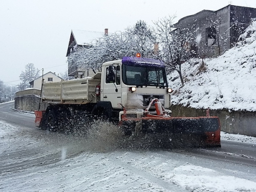
[[[256,111],[256,21],[241,35],[236,47],[214,59],[192,59],[170,75],[172,104],[193,108]],[[175,79],[175,80],[174,80]],[[173,81],[172,81],[173,80]]]

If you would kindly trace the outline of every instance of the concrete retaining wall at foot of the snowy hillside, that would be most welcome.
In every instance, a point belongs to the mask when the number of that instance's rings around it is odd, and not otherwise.
[[[206,110],[172,106],[173,117],[206,116]],[[210,110],[210,116],[218,116],[221,121],[221,130],[232,134],[241,134],[256,137],[256,112]]]

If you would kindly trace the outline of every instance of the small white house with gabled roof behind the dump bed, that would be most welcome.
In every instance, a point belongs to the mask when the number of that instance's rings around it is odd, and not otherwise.
[[[32,81],[29,82],[30,88],[39,89],[41,90],[41,84],[42,84],[42,78],[43,76],[40,76]],[[58,82],[61,81],[61,77],[57,76],[55,73],[48,72],[44,74],[44,83],[47,82]]]

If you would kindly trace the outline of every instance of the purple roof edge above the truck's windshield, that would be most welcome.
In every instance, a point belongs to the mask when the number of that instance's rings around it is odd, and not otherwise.
[[[128,66],[150,66],[164,68],[164,63],[161,60],[142,58],[142,57],[123,57],[122,63]]]

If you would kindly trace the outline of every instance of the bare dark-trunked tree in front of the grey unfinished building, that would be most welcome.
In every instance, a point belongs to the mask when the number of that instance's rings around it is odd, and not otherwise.
[[[168,16],[154,23],[155,34],[161,47],[159,54],[154,57],[163,60],[167,72],[176,70],[179,73],[181,86],[183,86],[181,65],[190,58],[189,45],[194,40],[196,29],[194,26],[175,29],[174,19],[175,16]]]

